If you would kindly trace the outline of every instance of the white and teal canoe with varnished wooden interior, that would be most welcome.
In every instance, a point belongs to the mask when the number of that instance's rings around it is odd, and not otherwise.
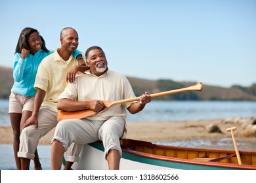
[[[120,143],[123,156],[119,168],[123,170],[256,170],[256,152],[240,152],[242,165],[238,165],[236,152],[232,150],[164,146],[132,139],[123,139]],[[108,169],[100,141],[83,144],[79,157],[79,162],[74,163],[72,169]],[[63,163],[66,164],[65,159]]]

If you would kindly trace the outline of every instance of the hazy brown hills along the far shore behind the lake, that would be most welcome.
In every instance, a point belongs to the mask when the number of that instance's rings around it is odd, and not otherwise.
[[[196,84],[195,82],[175,82],[173,80],[147,80],[127,76],[136,96],[144,92],[158,93],[178,88],[184,88]],[[0,99],[9,99],[13,84],[12,69],[0,67]],[[256,101],[256,84],[248,87],[232,86],[223,88],[220,86],[203,85],[202,92],[183,92],[174,95],[157,97],[156,100],[232,100],[232,101]]]

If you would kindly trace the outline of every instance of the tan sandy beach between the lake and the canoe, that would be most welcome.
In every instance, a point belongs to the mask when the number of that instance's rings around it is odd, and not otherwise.
[[[127,139],[150,142],[191,142],[200,140],[218,142],[221,141],[221,139],[231,139],[231,134],[226,131],[226,128],[236,126],[237,129],[234,131],[236,142],[246,144],[241,145],[240,150],[256,151],[256,117],[186,120],[179,122],[139,122],[129,123],[127,125]],[[53,134],[54,129],[45,135],[45,137],[42,137],[39,144],[49,145]],[[11,127],[0,127],[0,144],[11,143]],[[223,146],[223,148],[234,148],[234,146],[232,146],[232,139],[228,144],[228,147]],[[215,148],[215,146],[211,148]]]

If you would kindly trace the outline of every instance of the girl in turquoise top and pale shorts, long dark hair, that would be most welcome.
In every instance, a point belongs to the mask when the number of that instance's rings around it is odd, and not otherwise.
[[[9,115],[14,135],[13,148],[17,169],[21,169],[20,158],[17,157],[20,132],[22,125],[32,114],[33,99],[36,93],[33,85],[37,68],[43,58],[53,52],[46,48],[45,41],[37,29],[26,27],[20,33],[14,54],[14,84],[9,97]],[[81,56],[81,52],[78,50],[74,52],[74,58],[77,56]],[[34,163],[35,169],[41,169],[37,150]]]

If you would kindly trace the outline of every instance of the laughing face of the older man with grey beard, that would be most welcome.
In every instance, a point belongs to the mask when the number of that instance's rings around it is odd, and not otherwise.
[[[102,75],[108,67],[108,61],[106,60],[104,52],[98,48],[88,53],[87,61],[91,73],[96,76]]]

